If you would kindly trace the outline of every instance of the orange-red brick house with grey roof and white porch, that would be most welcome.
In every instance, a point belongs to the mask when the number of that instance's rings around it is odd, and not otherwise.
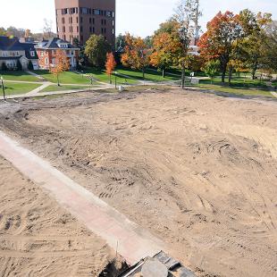
[[[62,50],[70,62],[71,69],[77,66],[80,49],[72,46],[69,42],[60,39],[52,38],[43,40],[36,46],[38,54],[39,68],[50,69],[51,65],[55,65],[55,54],[57,50]]]

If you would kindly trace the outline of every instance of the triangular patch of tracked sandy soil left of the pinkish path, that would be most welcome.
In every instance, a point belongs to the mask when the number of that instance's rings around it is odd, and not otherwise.
[[[0,157],[0,276],[97,276],[114,255]]]

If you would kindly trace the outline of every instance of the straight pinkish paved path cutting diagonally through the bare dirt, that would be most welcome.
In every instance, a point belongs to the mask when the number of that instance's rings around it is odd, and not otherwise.
[[[67,209],[88,230],[117,249],[130,264],[165,250],[164,243],[120,214],[112,206],[59,172],[38,155],[21,147],[0,130],[0,155],[23,175],[46,190],[50,197]],[[123,199],[122,199],[123,201]],[[142,211],[143,212],[143,211]]]

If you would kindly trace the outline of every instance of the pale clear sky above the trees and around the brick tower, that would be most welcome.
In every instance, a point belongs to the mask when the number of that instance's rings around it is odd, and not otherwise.
[[[93,0],[92,0],[93,1]],[[103,0],[105,1],[105,0]],[[43,19],[51,19],[55,30],[54,0],[1,0],[0,27],[14,26],[39,32]],[[171,17],[178,0],[116,0],[116,33],[130,31],[146,37],[158,28],[159,23]],[[203,17],[202,29],[214,14],[226,10],[238,13],[248,8],[254,12],[273,13],[277,19],[277,0],[200,0]]]

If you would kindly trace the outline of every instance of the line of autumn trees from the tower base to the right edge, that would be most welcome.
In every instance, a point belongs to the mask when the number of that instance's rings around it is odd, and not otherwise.
[[[205,71],[211,79],[221,74],[223,83],[231,82],[234,72],[251,72],[255,79],[256,71],[277,71],[277,22],[270,13],[249,10],[239,14],[217,13],[207,23],[206,32],[197,39],[199,55],[192,55],[196,19],[201,16],[197,5],[197,0],[180,1],[172,18],[162,23],[152,37],[120,35],[116,41],[120,62],[141,71],[143,77],[149,66],[157,68],[163,76],[167,70],[178,67],[182,87],[186,71]],[[90,62],[101,66],[106,57],[97,40],[105,48],[104,52],[109,52],[104,38],[92,36],[85,53]]]

